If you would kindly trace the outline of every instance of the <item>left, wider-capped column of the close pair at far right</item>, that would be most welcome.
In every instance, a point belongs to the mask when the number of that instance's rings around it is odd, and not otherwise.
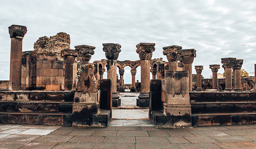
[[[230,91],[232,90],[232,67],[234,65],[236,58],[221,58],[221,63],[223,64],[222,67],[225,70],[225,90]]]

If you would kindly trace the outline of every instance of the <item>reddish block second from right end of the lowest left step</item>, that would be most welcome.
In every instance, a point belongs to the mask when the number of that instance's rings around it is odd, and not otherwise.
[[[44,115],[44,125],[63,125],[63,115]]]

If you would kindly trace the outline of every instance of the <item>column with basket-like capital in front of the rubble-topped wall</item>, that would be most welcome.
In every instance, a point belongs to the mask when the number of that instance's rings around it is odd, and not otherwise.
[[[64,78],[64,89],[65,90],[74,90],[73,85],[73,68],[75,57],[78,56],[76,50],[72,49],[63,49],[61,50],[61,56],[63,57],[65,63],[65,78]]]

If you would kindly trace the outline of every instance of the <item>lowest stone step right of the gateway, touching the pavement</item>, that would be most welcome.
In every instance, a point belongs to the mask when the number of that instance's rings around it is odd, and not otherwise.
[[[255,124],[256,112],[192,114],[192,126]]]

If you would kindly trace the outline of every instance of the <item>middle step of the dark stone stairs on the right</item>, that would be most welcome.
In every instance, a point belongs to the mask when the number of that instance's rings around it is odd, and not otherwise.
[[[256,112],[256,101],[190,103],[192,114]]]

